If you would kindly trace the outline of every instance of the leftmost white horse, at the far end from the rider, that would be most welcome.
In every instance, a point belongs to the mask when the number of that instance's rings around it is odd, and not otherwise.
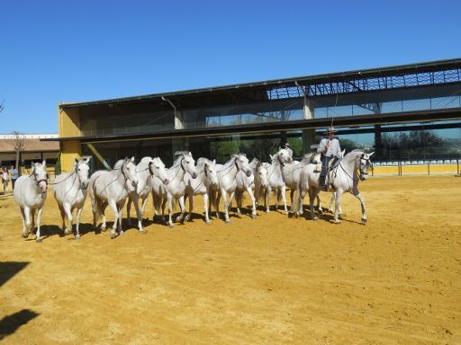
[[[23,237],[28,237],[34,227],[35,210],[37,210],[37,233],[35,242],[41,243],[41,213],[47,199],[48,172],[46,161],[32,163],[31,174],[23,175],[14,185],[14,201],[21,209],[23,217]]]

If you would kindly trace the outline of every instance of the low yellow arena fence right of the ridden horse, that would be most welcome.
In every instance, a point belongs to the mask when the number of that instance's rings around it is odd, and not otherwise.
[[[440,173],[459,174],[460,159],[444,160],[418,160],[418,161],[392,161],[374,162],[373,176],[381,175],[433,175]]]

